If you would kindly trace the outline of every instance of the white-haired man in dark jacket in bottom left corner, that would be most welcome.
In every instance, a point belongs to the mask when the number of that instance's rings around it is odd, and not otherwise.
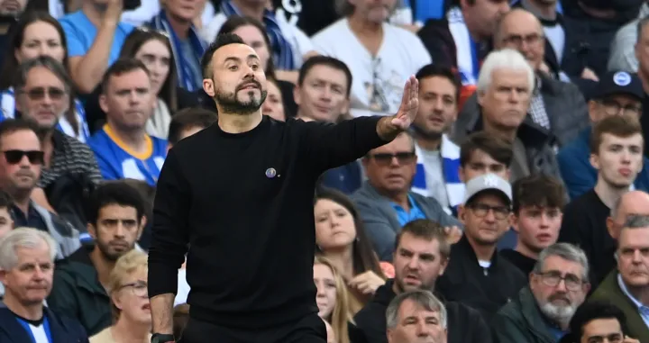
[[[0,282],[5,308],[0,309],[0,342],[87,342],[86,331],[43,304],[50,294],[57,242],[47,232],[19,228],[0,240]]]

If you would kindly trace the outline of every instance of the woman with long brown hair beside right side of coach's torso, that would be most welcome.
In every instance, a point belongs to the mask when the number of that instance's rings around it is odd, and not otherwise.
[[[327,257],[341,273],[350,292],[350,313],[360,311],[385,284],[391,265],[379,263],[362,221],[347,195],[319,188],[315,193],[315,242],[318,255]],[[391,270],[390,270],[391,269]],[[389,272],[389,273],[386,273]]]

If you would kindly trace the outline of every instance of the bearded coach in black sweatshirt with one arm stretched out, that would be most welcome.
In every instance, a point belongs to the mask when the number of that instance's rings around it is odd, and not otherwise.
[[[219,36],[201,64],[219,117],[179,141],[160,172],[149,251],[153,341],[174,339],[173,299],[189,245],[183,342],[324,343],[313,282],[316,180],[407,130],[416,78],[394,116],[277,122],[261,114],[265,75],[241,38]]]

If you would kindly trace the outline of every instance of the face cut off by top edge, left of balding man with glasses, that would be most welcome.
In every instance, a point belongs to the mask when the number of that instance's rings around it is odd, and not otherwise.
[[[497,23],[509,11],[507,0],[461,0],[464,21],[471,35],[480,40],[489,39],[496,31]]]

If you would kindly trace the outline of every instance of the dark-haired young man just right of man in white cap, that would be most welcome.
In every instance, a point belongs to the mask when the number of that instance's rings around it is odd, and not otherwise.
[[[512,228],[518,233],[516,248],[500,250],[500,254],[529,275],[541,251],[559,238],[565,189],[553,176],[535,175],[518,179],[513,191]]]

